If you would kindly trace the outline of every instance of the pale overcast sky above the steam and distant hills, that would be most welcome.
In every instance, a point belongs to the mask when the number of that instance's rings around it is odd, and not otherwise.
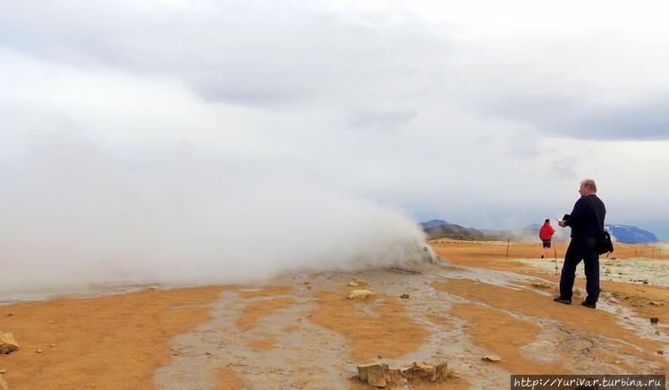
[[[128,170],[187,149],[253,180],[289,173],[480,228],[562,216],[592,178],[607,222],[669,240],[667,14],[659,1],[4,0],[0,165],[54,137]]]

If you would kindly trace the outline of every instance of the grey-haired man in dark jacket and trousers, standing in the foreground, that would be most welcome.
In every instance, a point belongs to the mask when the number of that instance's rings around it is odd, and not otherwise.
[[[580,182],[580,199],[576,201],[572,214],[564,216],[558,225],[572,227],[572,241],[564,255],[562,276],[560,276],[560,295],[554,301],[571,304],[576,266],[583,260],[586,274],[588,297],[581,304],[595,309],[599,299],[599,255],[595,250],[597,235],[604,228],[606,208],[597,198],[595,181],[587,179]],[[598,216],[598,218],[597,218]],[[598,219],[598,222],[597,222]]]

